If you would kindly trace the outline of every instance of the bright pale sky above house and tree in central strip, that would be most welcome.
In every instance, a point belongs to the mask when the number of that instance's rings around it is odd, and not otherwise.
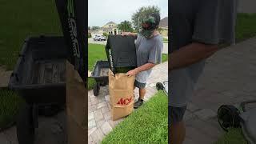
[[[107,22],[128,20],[142,6],[158,6],[161,19],[168,16],[168,0],[89,0],[88,26],[104,26]]]

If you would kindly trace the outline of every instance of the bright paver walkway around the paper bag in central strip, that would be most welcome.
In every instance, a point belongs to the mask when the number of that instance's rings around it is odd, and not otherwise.
[[[155,93],[156,82],[166,81],[168,78],[168,62],[155,66],[146,86],[145,100],[150,99]],[[138,90],[135,90],[135,101],[138,99]],[[123,119],[112,121],[110,115],[110,97],[108,86],[101,87],[100,94],[95,97],[93,91],[88,93],[88,143],[99,143],[102,138],[109,134],[119,122]]]

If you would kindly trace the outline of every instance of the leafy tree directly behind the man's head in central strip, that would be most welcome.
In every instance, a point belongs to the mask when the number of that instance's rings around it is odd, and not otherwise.
[[[139,27],[141,25],[141,19],[145,17],[146,14],[151,13],[160,13],[160,9],[158,6],[142,6],[138,9],[133,15],[132,15],[132,22],[134,25],[134,29],[136,31],[139,30]]]

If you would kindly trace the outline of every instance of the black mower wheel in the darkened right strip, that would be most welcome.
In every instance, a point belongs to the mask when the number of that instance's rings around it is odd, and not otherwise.
[[[241,118],[236,107],[222,105],[218,108],[218,124],[223,130],[228,131],[230,127],[239,127]]]

